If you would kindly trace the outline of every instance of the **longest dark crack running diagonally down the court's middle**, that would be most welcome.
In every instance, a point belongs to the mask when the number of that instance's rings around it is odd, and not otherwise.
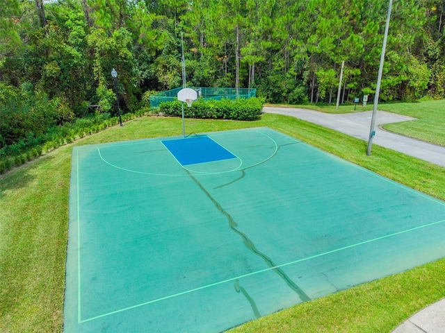
[[[232,216],[228,212],[225,211],[225,209],[220,205],[220,203],[218,203],[218,201],[215,198],[213,198],[213,196],[211,196],[209,191],[207,191],[207,189],[205,189],[202,186],[201,182],[199,180],[197,180],[195,178],[195,176],[193,176],[188,170],[186,170],[186,172],[188,173],[190,178],[193,180],[193,182],[195,182],[195,184],[198,187],[200,187],[200,189],[204,192],[204,194],[206,194],[207,198],[209,198],[211,200],[213,205],[215,205],[216,209],[227,218],[227,221],[229,222],[229,227],[236,234],[238,234],[241,237],[241,239],[243,239],[243,243],[244,243],[245,247],[248,248],[249,250],[251,250],[255,255],[258,255],[259,257],[261,257],[261,259],[263,259],[264,262],[266,262],[266,264],[275,273],[277,273],[277,275],[279,275],[280,278],[282,278],[282,280],[284,280],[284,282],[286,282],[286,284],[289,286],[289,288],[291,288],[293,291],[295,291],[297,293],[298,297],[300,298],[300,300],[302,300],[302,302],[306,302],[308,300],[311,300],[311,298],[309,298],[309,296],[307,296],[305,291],[303,291],[300,287],[298,287],[298,285],[295,282],[293,282],[291,280],[291,278],[289,278],[289,276],[287,276],[287,274],[282,270],[282,268],[277,267],[277,264],[275,264],[272,259],[270,259],[264,253],[261,253],[261,251],[259,251],[257,249],[255,244],[249,239],[247,234],[245,234],[245,233],[239,231],[238,229],[236,229],[236,227],[238,227],[238,223],[236,223],[236,221],[234,221]]]

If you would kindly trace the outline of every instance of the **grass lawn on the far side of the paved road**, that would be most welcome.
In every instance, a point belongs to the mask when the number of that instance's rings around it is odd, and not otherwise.
[[[366,106],[357,104],[356,110],[354,110],[354,105],[340,105],[338,109],[335,108],[335,105],[274,106],[292,106],[326,113],[349,113],[373,110],[372,103],[368,103]],[[415,121],[403,121],[401,123],[388,123],[383,126],[385,130],[407,137],[414,137],[414,139],[420,139],[432,144],[445,146],[445,100],[422,101],[418,103],[379,103],[378,110],[394,112],[419,119]]]

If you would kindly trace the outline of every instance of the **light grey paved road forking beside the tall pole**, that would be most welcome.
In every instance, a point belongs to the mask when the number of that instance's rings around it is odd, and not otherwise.
[[[369,138],[372,111],[353,112],[346,114],[328,114],[314,110],[300,108],[264,107],[266,113],[286,114],[318,125],[332,128],[341,133],[358,137],[366,142]],[[412,117],[402,116],[385,111],[378,111],[375,118],[375,137],[373,144],[400,151],[406,155],[418,157],[431,163],[445,167],[445,147],[428,144],[410,137],[398,135],[382,130],[380,126],[385,123],[398,123],[400,121],[413,121]]]

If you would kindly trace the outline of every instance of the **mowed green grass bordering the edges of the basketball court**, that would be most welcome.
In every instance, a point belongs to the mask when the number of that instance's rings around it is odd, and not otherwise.
[[[445,168],[277,114],[186,119],[187,133],[269,126],[445,200]],[[0,332],[62,332],[74,145],[181,134],[181,119],[144,117],[63,146],[0,177]],[[236,332],[390,332],[445,296],[445,259],[246,323]]]

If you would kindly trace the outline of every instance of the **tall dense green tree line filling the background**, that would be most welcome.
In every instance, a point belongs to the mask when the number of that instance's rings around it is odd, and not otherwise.
[[[182,85],[273,103],[373,94],[387,0],[0,0],[0,148]],[[394,1],[380,97],[445,98],[445,3]],[[184,42],[182,42],[182,40]]]

